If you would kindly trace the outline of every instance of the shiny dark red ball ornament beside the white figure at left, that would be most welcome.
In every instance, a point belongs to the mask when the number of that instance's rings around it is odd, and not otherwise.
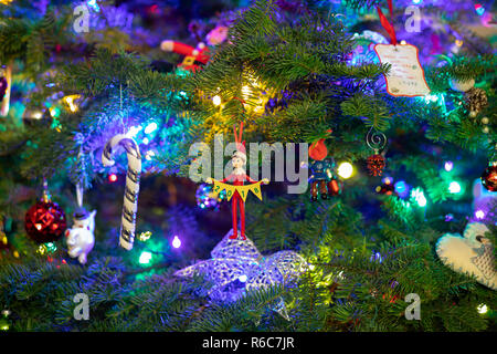
[[[56,241],[67,228],[65,214],[56,202],[39,201],[25,214],[28,236],[39,243]]]

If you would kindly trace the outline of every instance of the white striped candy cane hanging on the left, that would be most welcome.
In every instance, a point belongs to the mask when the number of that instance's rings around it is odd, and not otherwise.
[[[118,134],[105,144],[102,153],[104,166],[113,166],[113,149],[120,145],[126,149],[128,156],[128,173],[126,174],[126,188],[123,205],[123,217],[120,225],[119,246],[126,250],[133,249],[136,228],[136,211],[138,205],[138,192],[140,189],[141,155],[138,144],[130,137]]]

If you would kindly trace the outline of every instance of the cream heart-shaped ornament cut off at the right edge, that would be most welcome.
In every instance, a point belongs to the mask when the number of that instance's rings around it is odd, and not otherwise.
[[[486,232],[490,230],[484,223],[470,222],[463,237],[445,233],[436,243],[436,253],[454,271],[473,274],[479,283],[497,290],[494,244]]]

